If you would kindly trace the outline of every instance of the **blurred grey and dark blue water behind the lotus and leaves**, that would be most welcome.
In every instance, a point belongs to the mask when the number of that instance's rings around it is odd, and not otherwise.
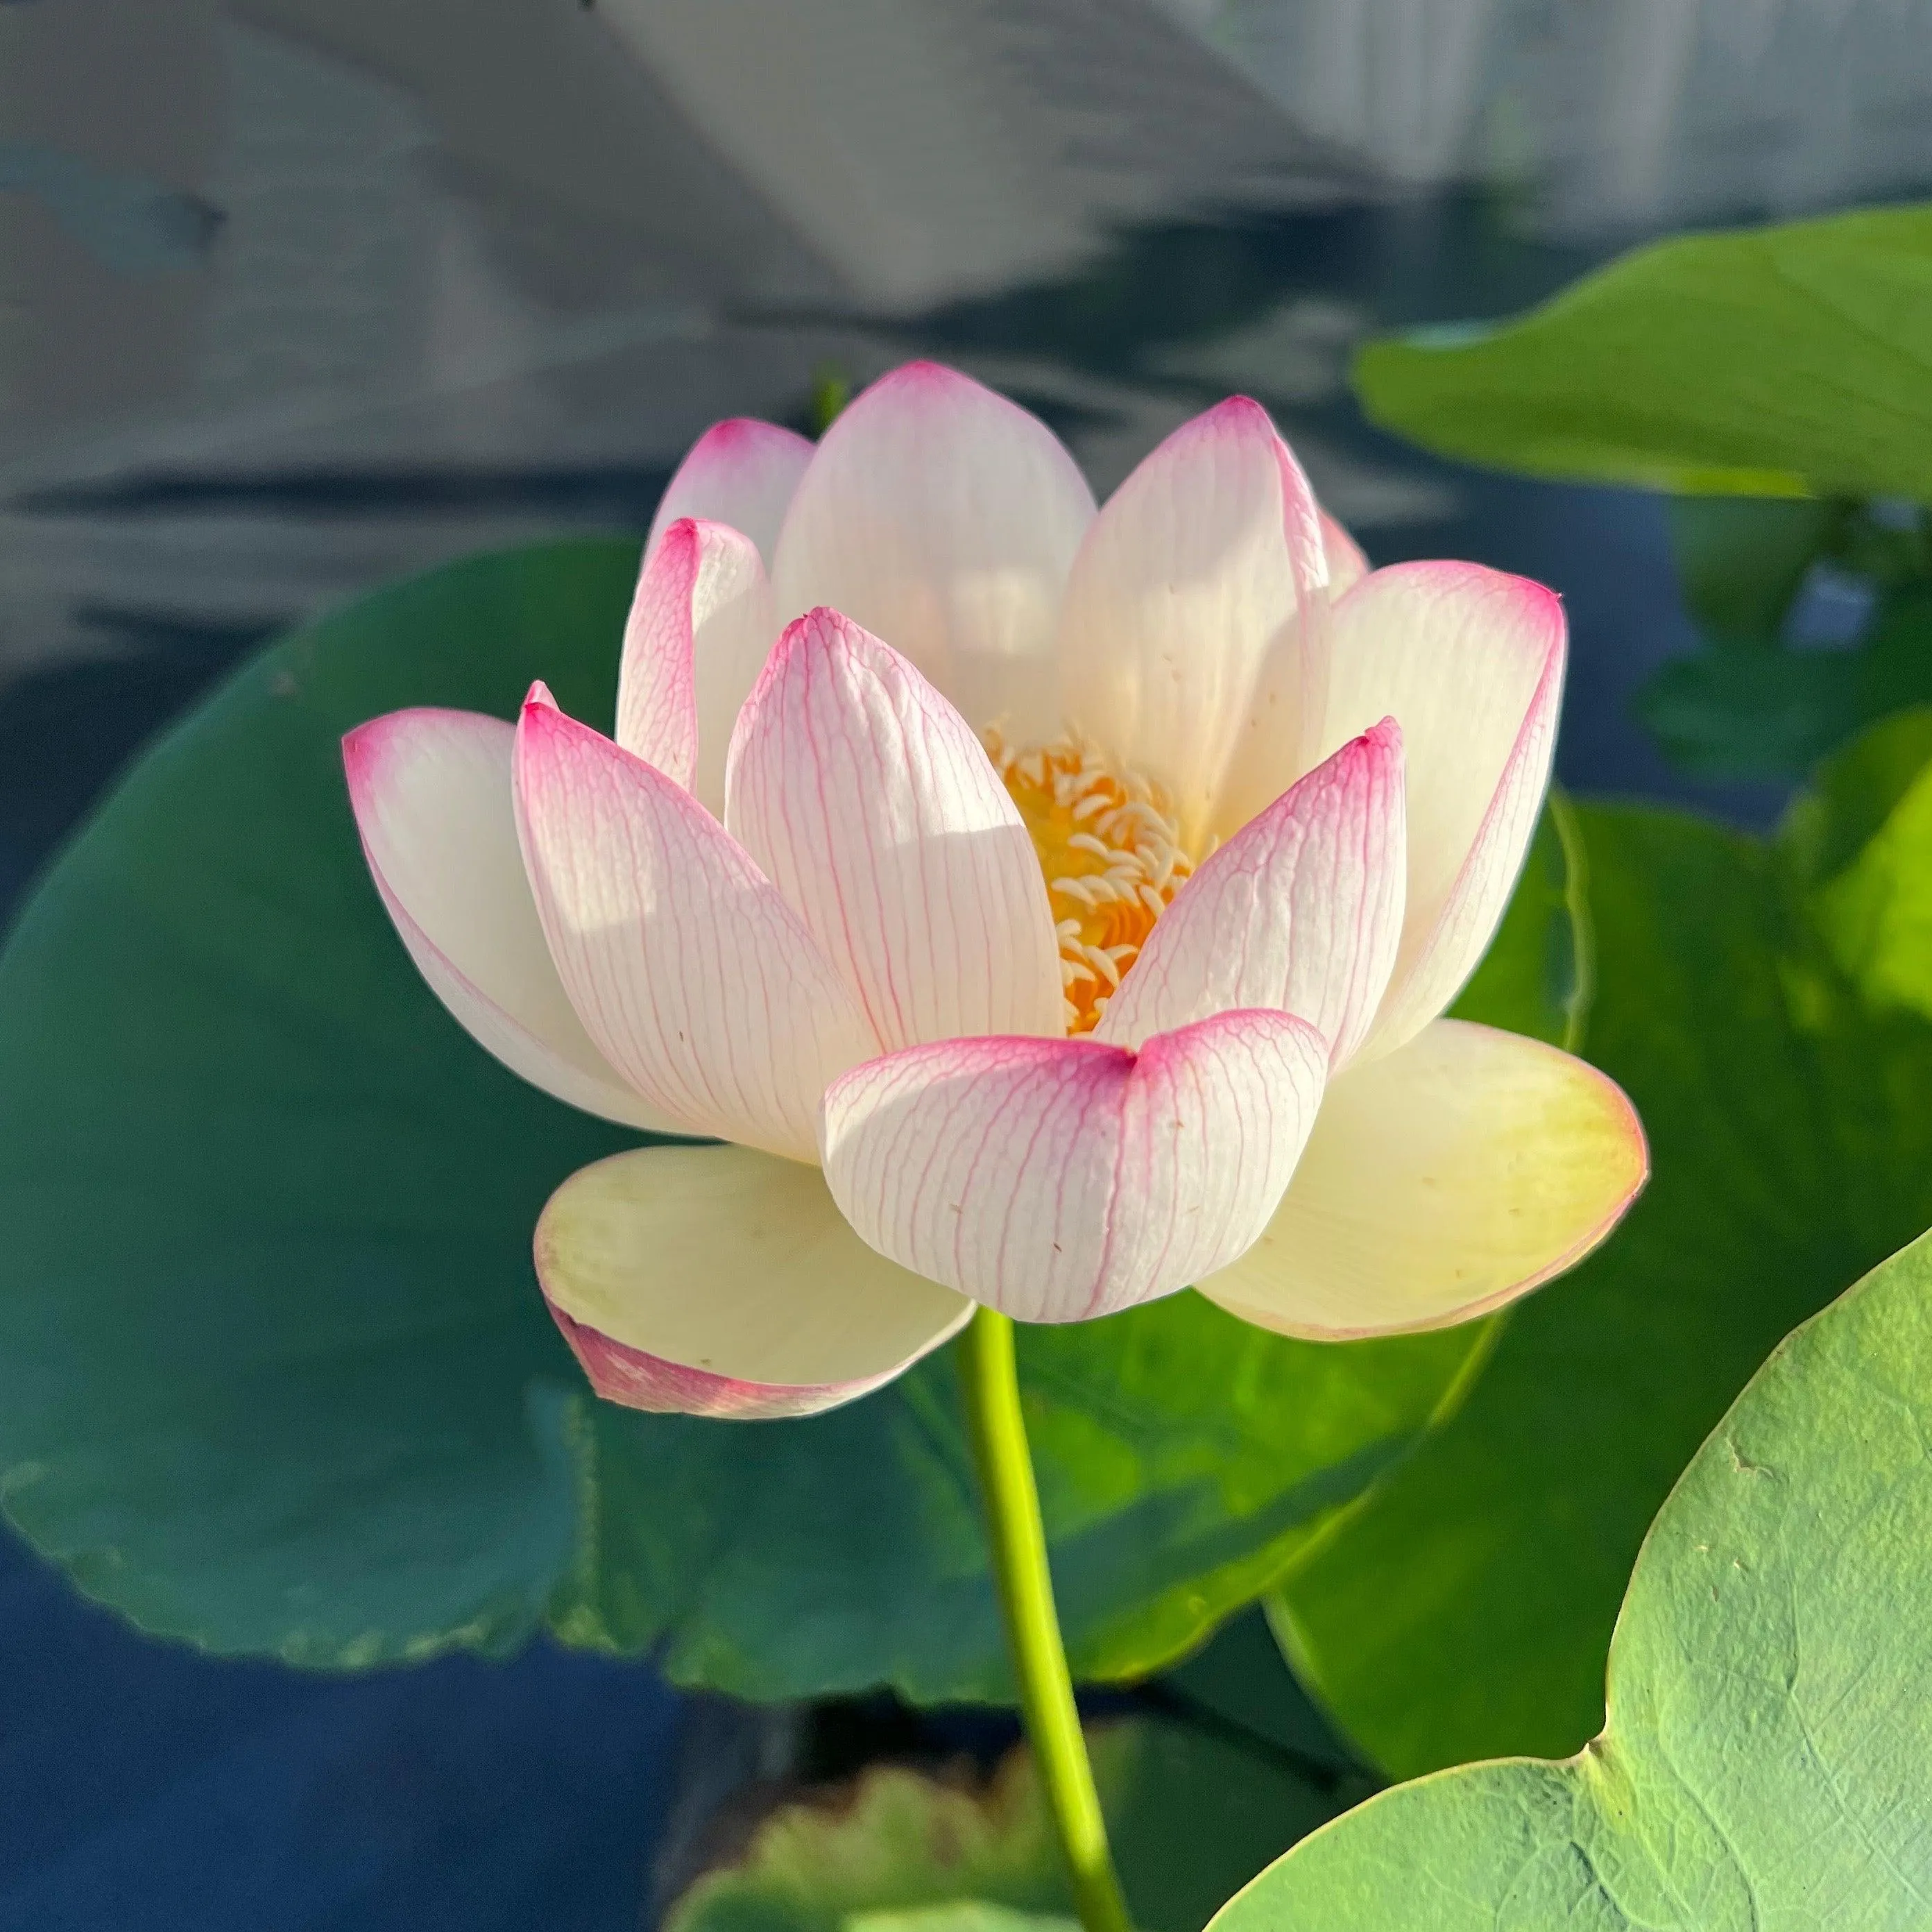
[[[1631,715],[1692,643],[1662,502],[1420,456],[1349,359],[1928,185],[1928,0],[10,0],[0,902],[265,638],[641,529],[709,421],[914,354],[1099,493],[1258,396],[1376,562],[1563,591],[1569,784],[1764,823]],[[4,1932],[636,1926],[674,1793],[755,1750],[549,1646],[203,1660],[0,1546]]]

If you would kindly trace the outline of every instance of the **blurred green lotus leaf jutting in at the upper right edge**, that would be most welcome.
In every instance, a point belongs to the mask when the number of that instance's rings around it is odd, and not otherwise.
[[[1372,342],[1368,415],[1466,462],[1932,502],[1932,209],[1638,249],[1495,328]]]

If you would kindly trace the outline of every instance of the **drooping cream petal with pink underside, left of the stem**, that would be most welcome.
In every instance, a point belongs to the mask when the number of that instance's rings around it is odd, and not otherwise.
[[[572,1175],[537,1223],[537,1279],[601,1397],[690,1416],[837,1408],[974,1306],[873,1254],[817,1169],[750,1148],[639,1148]]]

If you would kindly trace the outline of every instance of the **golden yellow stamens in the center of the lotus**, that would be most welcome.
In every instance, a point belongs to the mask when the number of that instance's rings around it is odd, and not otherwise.
[[[1047,875],[1066,1032],[1090,1034],[1194,862],[1167,798],[1109,771],[1092,746],[1061,738],[1014,752],[989,730],[985,748]]]

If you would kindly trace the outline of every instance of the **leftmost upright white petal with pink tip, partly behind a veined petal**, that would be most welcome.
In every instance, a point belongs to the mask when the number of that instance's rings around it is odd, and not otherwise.
[[[572,1107],[678,1134],[591,1045],[516,846],[502,719],[392,711],[342,740],[363,854],[417,972],[512,1072]]]

